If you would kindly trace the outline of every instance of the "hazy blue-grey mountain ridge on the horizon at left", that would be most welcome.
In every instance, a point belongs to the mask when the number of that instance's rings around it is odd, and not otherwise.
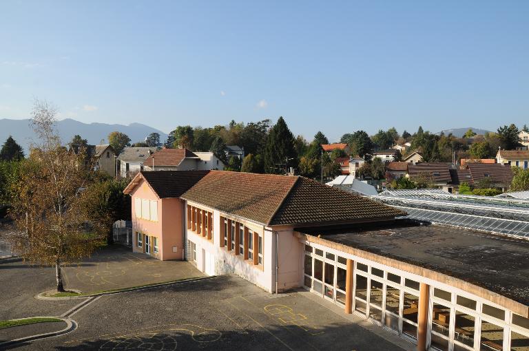
[[[145,140],[145,137],[151,133],[160,134],[160,141],[164,142],[167,134],[163,131],[142,125],[141,123],[131,123],[129,125],[107,125],[106,123],[82,123],[78,120],[66,118],[57,122],[57,129],[61,136],[63,144],[72,140],[73,136],[79,134],[83,139],[87,139],[89,144],[99,144],[101,140],[108,142],[107,136],[112,131],[121,131],[127,134],[132,140],[131,142],[138,142]],[[35,142],[34,132],[30,127],[30,120],[11,120],[7,118],[0,119],[0,145],[12,136],[17,140],[19,145],[24,148],[26,155],[28,154],[31,142]]]

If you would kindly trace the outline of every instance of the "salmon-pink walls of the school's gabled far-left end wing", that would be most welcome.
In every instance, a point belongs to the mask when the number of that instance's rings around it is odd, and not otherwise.
[[[136,233],[154,236],[158,240],[158,254],[152,250],[151,255],[158,259],[182,259],[182,204],[179,199],[159,199],[158,195],[149,187],[145,180],[141,180],[130,194],[132,197],[132,235],[133,251],[143,253],[143,247],[138,247]],[[136,218],[136,204],[134,199],[156,200],[158,202],[158,220],[144,220]],[[176,247],[176,252],[173,252]]]

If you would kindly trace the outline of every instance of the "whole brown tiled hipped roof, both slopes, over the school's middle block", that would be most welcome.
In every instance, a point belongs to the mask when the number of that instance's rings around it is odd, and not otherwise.
[[[353,222],[405,215],[303,177],[211,171],[182,198],[267,225]]]

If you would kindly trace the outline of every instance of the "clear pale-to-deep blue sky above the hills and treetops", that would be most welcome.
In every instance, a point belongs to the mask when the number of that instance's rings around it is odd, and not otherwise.
[[[529,124],[529,1],[2,1],[0,118]],[[82,134],[82,131],[80,131]]]

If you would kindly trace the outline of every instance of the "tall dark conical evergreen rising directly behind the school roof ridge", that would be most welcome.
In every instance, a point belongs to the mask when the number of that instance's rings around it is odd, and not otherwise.
[[[282,117],[270,129],[263,156],[265,173],[282,173],[286,167],[298,166],[294,136]]]

